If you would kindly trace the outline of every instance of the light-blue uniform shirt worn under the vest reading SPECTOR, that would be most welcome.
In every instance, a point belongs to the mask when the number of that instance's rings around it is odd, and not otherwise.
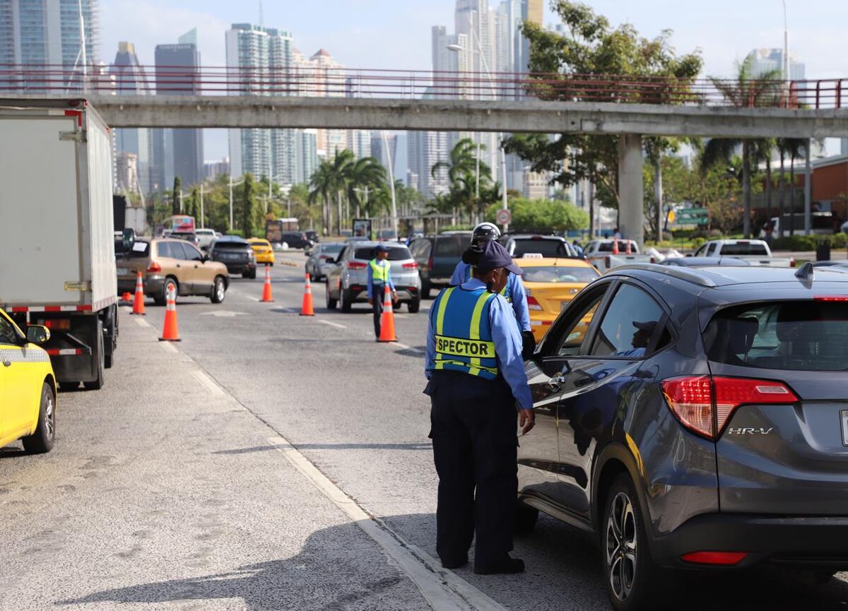
[[[472,278],[460,286],[462,291],[474,291],[485,288],[483,281]],[[436,368],[436,322],[434,317],[436,308],[430,308],[430,323],[427,329],[427,357],[424,360],[427,380],[430,379],[432,371]],[[492,326],[492,340],[494,341],[494,353],[498,358],[498,369],[506,383],[512,389],[512,396],[516,397],[518,405],[522,409],[533,408],[533,397],[530,394],[530,386],[527,384],[527,375],[524,373],[524,359],[522,358],[522,334],[518,329],[516,317],[510,310],[510,304],[506,303],[504,297],[498,295],[492,300],[489,309],[489,323]]]

